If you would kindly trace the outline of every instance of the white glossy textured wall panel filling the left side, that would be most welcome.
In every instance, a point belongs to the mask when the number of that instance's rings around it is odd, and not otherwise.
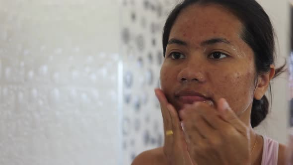
[[[0,4],[0,165],[118,165],[118,1]]]

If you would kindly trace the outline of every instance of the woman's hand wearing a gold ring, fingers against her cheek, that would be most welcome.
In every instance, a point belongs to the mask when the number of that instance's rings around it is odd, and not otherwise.
[[[165,141],[163,146],[164,155],[169,165],[195,165],[187,150],[181,123],[174,107],[168,103],[164,93],[155,89],[164,122]],[[172,130],[173,135],[166,135],[166,131]]]

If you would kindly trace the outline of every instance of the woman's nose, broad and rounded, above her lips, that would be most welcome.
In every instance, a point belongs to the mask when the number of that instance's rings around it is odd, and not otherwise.
[[[178,74],[178,81],[180,83],[186,82],[198,82],[204,83],[206,81],[205,75],[202,72],[202,69],[199,67],[193,66],[186,66],[183,68]]]

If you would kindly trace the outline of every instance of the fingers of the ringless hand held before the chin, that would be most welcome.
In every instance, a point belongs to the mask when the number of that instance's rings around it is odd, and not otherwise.
[[[220,107],[218,106],[220,109],[218,110],[203,102],[197,102],[180,111],[179,115],[182,119],[187,142],[198,142],[205,139],[207,143],[220,144],[220,137],[225,137],[227,131],[229,134],[231,131],[235,131],[235,133],[239,132],[247,136],[249,131],[228,104],[222,101],[220,100]]]

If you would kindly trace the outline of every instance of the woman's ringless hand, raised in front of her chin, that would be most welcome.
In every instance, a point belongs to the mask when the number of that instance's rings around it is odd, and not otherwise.
[[[225,99],[217,109],[197,102],[179,115],[188,151],[199,165],[250,165],[249,128]]]

